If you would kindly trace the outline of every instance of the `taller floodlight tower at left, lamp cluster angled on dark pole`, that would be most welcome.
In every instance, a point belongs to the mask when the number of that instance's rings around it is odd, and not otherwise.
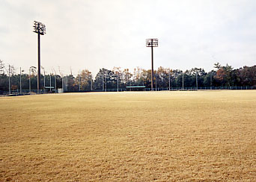
[[[38,66],[37,66],[37,92],[40,92],[40,77],[41,77],[41,66],[40,66],[40,35],[46,34],[46,25],[41,22],[34,21],[34,33],[38,34]]]

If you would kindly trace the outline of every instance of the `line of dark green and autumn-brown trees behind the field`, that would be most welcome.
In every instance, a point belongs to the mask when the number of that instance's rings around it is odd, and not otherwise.
[[[9,82],[10,80],[10,82]],[[234,69],[228,64],[222,66],[214,64],[214,69],[205,72],[202,68],[192,68],[183,72],[180,69],[170,69],[160,66],[154,70],[154,87],[156,88],[198,88],[198,87],[256,87],[256,65],[243,66]],[[30,68],[30,74],[15,72],[13,66],[4,66],[0,60],[0,90],[36,90],[37,72],[35,67]],[[102,91],[102,90],[126,90],[127,86],[144,86],[150,88],[151,70],[136,67],[133,70],[100,69],[95,78],[88,69],[83,69],[78,75],[48,74],[41,75],[41,88],[63,88],[66,92]]]

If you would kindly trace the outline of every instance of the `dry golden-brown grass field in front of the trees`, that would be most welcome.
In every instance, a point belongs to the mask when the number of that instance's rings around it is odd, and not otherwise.
[[[256,181],[256,91],[0,98],[0,181]]]

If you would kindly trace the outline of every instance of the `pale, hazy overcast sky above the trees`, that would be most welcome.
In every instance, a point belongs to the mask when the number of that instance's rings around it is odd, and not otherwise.
[[[256,64],[255,0],[0,0],[0,60],[37,66],[33,21],[46,25],[41,65],[73,75],[100,68],[213,69]]]

